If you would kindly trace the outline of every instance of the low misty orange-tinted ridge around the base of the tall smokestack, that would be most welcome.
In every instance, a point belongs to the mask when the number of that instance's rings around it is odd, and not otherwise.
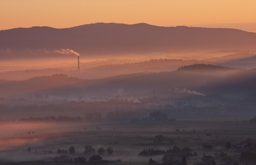
[[[110,64],[106,64],[109,62]],[[122,61],[121,61],[122,62]],[[142,62],[129,62],[118,64],[118,61],[102,61],[98,64],[95,63],[81,63],[79,74],[75,69],[65,70],[57,68],[47,69],[23,69],[15,71],[3,71],[4,67],[0,68],[0,77],[6,80],[25,80],[39,76],[51,76],[55,74],[64,74],[71,77],[79,77],[84,79],[100,79],[110,76],[127,75],[139,72],[160,72],[160,71],[173,71],[181,65],[189,65],[197,63],[197,60],[170,60],[170,59],[151,59]],[[202,62],[202,61],[201,61]],[[113,64],[112,64],[113,63]],[[95,67],[97,65],[97,67]],[[87,67],[87,68],[86,68]],[[8,69],[8,67],[6,68]]]

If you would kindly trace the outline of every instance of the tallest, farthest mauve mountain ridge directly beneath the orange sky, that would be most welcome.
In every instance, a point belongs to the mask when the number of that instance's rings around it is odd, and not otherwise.
[[[256,33],[253,32],[185,26],[157,27],[146,23],[94,23],[66,29],[32,27],[0,31],[0,50],[71,48],[82,55],[247,51],[255,50],[255,43]]]

